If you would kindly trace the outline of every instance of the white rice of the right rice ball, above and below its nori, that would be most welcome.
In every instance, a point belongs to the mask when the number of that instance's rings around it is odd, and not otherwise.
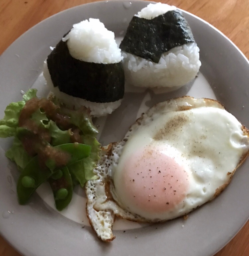
[[[162,3],[149,4],[135,16],[153,19],[170,10],[176,10],[176,7]],[[201,66],[196,43],[188,43],[164,52],[159,63],[127,52],[123,52],[122,56],[126,81],[139,87],[178,89],[193,80]]]

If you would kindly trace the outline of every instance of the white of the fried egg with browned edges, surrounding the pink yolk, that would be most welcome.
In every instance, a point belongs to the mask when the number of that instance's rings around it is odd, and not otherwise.
[[[115,216],[157,222],[187,214],[215,198],[248,155],[249,131],[217,101],[182,97],[159,103],[133,124],[124,139],[103,148],[86,184],[87,216],[98,237],[113,240]],[[151,212],[126,197],[125,163],[137,148],[150,144],[171,148],[188,176],[184,200],[170,211]]]

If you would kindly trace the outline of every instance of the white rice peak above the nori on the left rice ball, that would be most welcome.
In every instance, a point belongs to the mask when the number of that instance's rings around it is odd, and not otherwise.
[[[123,57],[112,31],[105,28],[99,19],[89,19],[74,24],[62,38],[75,59],[94,63],[118,63]]]

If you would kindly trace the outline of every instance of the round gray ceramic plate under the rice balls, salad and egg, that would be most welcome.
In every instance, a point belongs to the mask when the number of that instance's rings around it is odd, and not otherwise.
[[[0,56],[1,117],[8,103],[21,99],[21,90],[26,91],[35,82],[35,86],[43,86],[39,75],[43,60],[50,52],[49,46],[54,46],[72,24],[90,17],[99,18],[116,36],[121,36],[131,17],[147,4],[145,1],[106,1],[77,6],[46,19],[26,32]],[[155,98],[159,101],[184,94],[216,97],[249,127],[246,111],[249,109],[248,60],[229,39],[208,23],[189,13],[184,12],[184,15],[200,47],[202,74],[191,89],[185,87],[175,93],[164,94],[164,97],[158,94]],[[135,106],[135,96],[141,103],[139,95],[133,94],[132,102],[126,97],[126,110]],[[136,108],[139,112],[139,106]],[[136,118],[133,116],[128,120],[127,115],[128,112],[124,113],[120,119],[120,115],[117,118],[116,114],[105,120],[107,126],[101,136],[103,143],[122,137],[124,130]],[[110,122],[118,122],[123,131],[113,132],[111,137],[108,133]],[[27,206],[18,205],[15,190],[18,171],[4,156],[10,142],[9,139],[0,140],[0,232],[24,255],[213,255],[248,219],[247,161],[216,200],[191,213],[186,221],[179,218],[143,227],[131,224],[127,229],[127,223],[124,223],[123,227],[114,230],[116,239],[112,243],[102,243],[87,223],[82,228],[82,224],[78,223],[81,217],[74,221],[57,213],[37,194]],[[83,201],[79,207],[83,215]]]

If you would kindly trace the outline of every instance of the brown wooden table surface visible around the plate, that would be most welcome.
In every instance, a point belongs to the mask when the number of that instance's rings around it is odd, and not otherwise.
[[[0,54],[25,31],[67,8],[94,0],[1,0]],[[206,20],[230,38],[249,57],[248,0],[166,0]],[[249,221],[215,256],[249,255]],[[0,256],[20,256],[0,236]]]

